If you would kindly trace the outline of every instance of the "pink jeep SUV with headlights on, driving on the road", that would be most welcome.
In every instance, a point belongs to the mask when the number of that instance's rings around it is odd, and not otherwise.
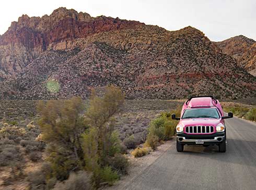
[[[184,103],[181,117],[175,114],[172,119],[180,120],[176,127],[177,151],[184,145],[218,145],[219,151],[226,151],[226,126],[224,119],[232,118],[233,113],[224,116],[222,106],[213,96],[190,97]]]

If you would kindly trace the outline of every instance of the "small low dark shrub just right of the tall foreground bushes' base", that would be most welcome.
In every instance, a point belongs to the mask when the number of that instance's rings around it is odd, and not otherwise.
[[[116,154],[114,157],[110,158],[109,165],[120,174],[127,174],[129,167],[128,159],[122,154]]]

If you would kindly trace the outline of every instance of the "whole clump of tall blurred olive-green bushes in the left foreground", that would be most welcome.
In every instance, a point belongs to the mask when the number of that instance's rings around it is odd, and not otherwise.
[[[114,86],[106,87],[103,97],[92,91],[88,104],[79,97],[38,103],[38,124],[50,168],[44,172],[45,187],[64,180],[81,186],[79,183],[85,183],[81,180],[88,178],[86,186],[97,188],[112,185],[127,173],[128,161],[121,154],[113,117],[123,104],[124,94]],[[77,173],[80,171],[84,173]],[[61,188],[61,184],[56,188]]]

